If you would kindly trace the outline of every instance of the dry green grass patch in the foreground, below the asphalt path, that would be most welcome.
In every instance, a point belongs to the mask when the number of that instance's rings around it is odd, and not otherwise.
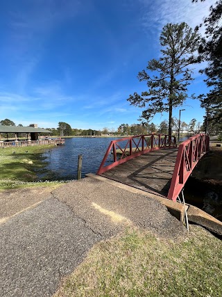
[[[221,241],[200,227],[180,243],[134,228],[97,243],[54,297],[219,297],[221,259]]]

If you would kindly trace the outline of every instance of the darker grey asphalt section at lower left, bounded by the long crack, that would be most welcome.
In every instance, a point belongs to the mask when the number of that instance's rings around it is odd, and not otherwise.
[[[0,225],[0,296],[52,296],[101,241],[86,223],[51,195]]]

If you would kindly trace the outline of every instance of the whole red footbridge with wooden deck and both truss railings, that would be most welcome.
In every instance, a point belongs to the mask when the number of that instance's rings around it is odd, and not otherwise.
[[[162,134],[120,138],[111,141],[97,175],[176,201],[209,143],[205,134],[179,146],[176,137]]]

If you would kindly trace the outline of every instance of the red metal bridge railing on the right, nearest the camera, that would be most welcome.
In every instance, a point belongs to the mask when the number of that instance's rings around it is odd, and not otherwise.
[[[200,158],[209,152],[209,144],[210,138],[205,134],[192,136],[180,143],[167,198],[176,201]]]

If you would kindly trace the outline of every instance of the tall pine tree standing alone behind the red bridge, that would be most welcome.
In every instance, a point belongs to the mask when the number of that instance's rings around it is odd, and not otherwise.
[[[171,135],[173,108],[182,105],[187,98],[187,86],[191,78],[189,65],[196,61],[194,51],[198,49],[200,35],[185,22],[167,24],[160,35],[162,56],[148,61],[148,66],[139,72],[139,81],[146,81],[148,91],[142,95],[130,95],[130,104],[147,107],[141,120],[151,120],[155,113],[169,112],[169,135]],[[153,77],[149,74],[154,72]]]

